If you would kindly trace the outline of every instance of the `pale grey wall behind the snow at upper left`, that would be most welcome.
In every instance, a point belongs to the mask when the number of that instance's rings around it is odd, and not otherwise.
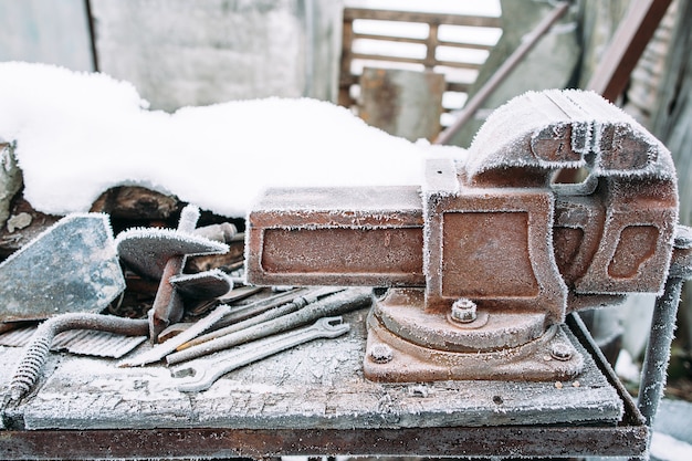
[[[102,71],[151,108],[336,102],[340,0],[0,0],[0,61]]]

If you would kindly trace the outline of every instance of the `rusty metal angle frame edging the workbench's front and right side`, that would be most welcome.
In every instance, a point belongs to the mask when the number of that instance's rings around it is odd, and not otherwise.
[[[426,457],[534,457],[583,455],[642,457],[648,430],[635,404],[597,350],[583,324],[567,324],[580,344],[594,355],[608,381],[618,389],[625,415],[618,425],[591,422],[516,425],[495,427],[325,429],[319,427],[233,429],[205,427],[108,430],[17,430],[0,432],[0,458],[105,459],[205,458],[277,455],[426,455]],[[15,415],[19,416],[19,415]],[[6,421],[8,418],[6,415]],[[8,421],[11,422],[11,421]]]

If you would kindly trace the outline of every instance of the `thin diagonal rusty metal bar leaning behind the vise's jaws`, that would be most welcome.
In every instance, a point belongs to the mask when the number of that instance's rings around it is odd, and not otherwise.
[[[452,125],[447,127],[434,140],[434,144],[449,144],[452,137],[473,117],[473,114],[481,108],[481,105],[493,94],[502,82],[512,73],[524,56],[538,43],[538,41],[551,30],[553,24],[557,22],[569,9],[569,2],[562,1],[555,6],[555,9],[548,14],[536,28],[526,36],[526,40],[507,57],[507,60],[497,69],[495,73],[485,82],[481,90],[471,97],[459,114],[459,117]]]

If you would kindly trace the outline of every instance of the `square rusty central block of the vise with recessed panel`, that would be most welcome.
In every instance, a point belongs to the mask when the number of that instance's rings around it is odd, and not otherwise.
[[[427,308],[447,310],[463,296],[495,312],[544,312],[551,323],[564,319],[567,287],[549,263],[548,190],[431,190],[426,201]]]

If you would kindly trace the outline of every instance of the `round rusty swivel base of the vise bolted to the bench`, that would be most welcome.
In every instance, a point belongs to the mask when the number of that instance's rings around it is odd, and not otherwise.
[[[450,326],[453,325],[453,326]],[[368,318],[364,374],[377,381],[570,381],[585,367],[573,339],[545,315],[481,311],[464,324],[423,311],[421,289],[395,289]],[[386,360],[376,350],[390,350]]]

